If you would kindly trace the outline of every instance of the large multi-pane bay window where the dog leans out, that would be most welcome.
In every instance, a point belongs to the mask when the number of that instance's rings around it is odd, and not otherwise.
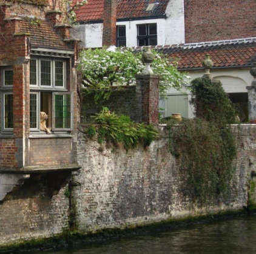
[[[30,130],[40,131],[40,112],[53,131],[72,129],[72,93],[67,92],[66,62],[59,59],[30,60]]]

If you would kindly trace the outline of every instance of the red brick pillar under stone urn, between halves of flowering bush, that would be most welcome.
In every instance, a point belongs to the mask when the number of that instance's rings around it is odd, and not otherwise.
[[[159,80],[155,74],[136,76],[138,106],[141,105],[141,122],[158,125]]]

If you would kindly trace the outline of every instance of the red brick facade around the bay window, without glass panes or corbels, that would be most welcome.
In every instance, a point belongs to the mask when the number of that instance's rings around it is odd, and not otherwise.
[[[0,174],[6,168],[8,171],[16,171],[26,166],[57,166],[76,163],[76,122],[78,119],[76,97],[76,63],[78,60],[78,42],[70,37],[70,26],[59,24],[61,11],[49,11],[47,7],[37,7],[33,4],[8,2],[0,4],[0,61],[2,74],[4,70],[12,70],[12,85],[4,83],[4,75],[1,77],[0,94]],[[35,15],[36,18],[24,18],[26,14]],[[45,14],[46,13],[46,14]],[[46,18],[46,20],[45,20]],[[47,20],[49,18],[49,20]],[[41,48],[41,51],[36,51]],[[53,58],[54,57],[54,58]],[[36,89],[30,85],[30,60],[36,62],[36,80],[39,80],[38,67],[40,59],[47,59],[51,63],[51,84],[56,82],[53,73],[56,71],[55,63],[61,62],[63,88],[51,85],[49,88],[41,88],[39,83]],[[63,74],[64,73],[64,74]],[[56,74],[55,74],[56,75]],[[36,81],[39,82],[39,81]],[[52,91],[50,91],[52,90]],[[72,104],[72,117],[67,131],[52,132],[47,135],[40,131],[39,113],[41,104],[47,96],[47,107],[53,112],[52,92],[66,92],[70,95]],[[38,131],[30,129],[30,94],[36,94],[36,120]],[[11,94],[13,98],[13,128],[6,128],[4,121],[5,101],[4,96]],[[50,106],[49,106],[50,105]],[[7,105],[8,106],[8,105]],[[10,111],[10,109],[8,109]],[[8,113],[6,113],[8,114]],[[8,116],[7,116],[8,117]],[[5,119],[5,120],[4,120]],[[49,120],[53,121],[52,119]],[[64,129],[64,127],[61,127]],[[57,134],[57,135],[56,135]],[[33,135],[33,137],[31,136]]]

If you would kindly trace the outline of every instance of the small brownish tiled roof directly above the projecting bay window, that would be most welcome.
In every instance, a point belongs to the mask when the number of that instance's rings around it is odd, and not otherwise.
[[[19,24],[21,32],[32,34],[30,36],[32,47],[69,50],[48,21],[42,20],[40,25],[32,25],[28,19],[24,19],[20,21]]]

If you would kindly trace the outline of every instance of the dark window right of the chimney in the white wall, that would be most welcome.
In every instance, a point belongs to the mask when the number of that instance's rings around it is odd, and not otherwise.
[[[157,24],[137,25],[138,46],[157,45]]]

